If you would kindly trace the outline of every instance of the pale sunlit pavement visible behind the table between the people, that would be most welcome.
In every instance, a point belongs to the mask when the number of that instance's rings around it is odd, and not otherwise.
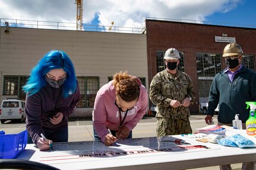
[[[191,116],[191,127],[193,132],[197,132],[197,128],[206,126],[204,123],[204,115]],[[93,125],[91,118],[71,118],[69,119],[69,142],[93,140]],[[25,123],[20,121],[5,121],[1,124],[1,130],[5,133],[18,133],[26,129]],[[134,128],[133,137],[152,137],[156,136],[156,118],[144,117]]]

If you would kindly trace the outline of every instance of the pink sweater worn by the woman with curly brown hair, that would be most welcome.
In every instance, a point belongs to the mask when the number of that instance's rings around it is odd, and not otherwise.
[[[147,112],[147,90],[145,86],[141,85],[140,79],[137,79],[137,81],[140,84],[140,97],[134,108],[128,111],[127,117],[122,124],[122,126],[127,127],[129,130],[134,129],[138,121],[140,121]],[[99,89],[94,102],[93,126],[102,142],[104,142],[106,135],[109,133],[108,129],[116,131],[119,129],[119,110],[115,105],[115,101],[116,89],[113,86],[113,81],[110,81]],[[121,113],[123,120],[125,112]]]

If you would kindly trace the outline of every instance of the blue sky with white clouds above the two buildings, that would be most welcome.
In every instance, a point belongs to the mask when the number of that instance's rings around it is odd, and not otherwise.
[[[0,0],[0,18],[76,23],[75,0]],[[84,0],[83,24],[141,28],[146,17],[254,25],[255,0]],[[235,26],[235,25],[234,25]]]

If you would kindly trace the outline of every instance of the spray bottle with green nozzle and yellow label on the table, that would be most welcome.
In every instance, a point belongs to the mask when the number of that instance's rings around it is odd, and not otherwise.
[[[246,120],[246,133],[250,136],[256,136],[256,102],[247,101],[247,109],[250,107],[249,118]]]

